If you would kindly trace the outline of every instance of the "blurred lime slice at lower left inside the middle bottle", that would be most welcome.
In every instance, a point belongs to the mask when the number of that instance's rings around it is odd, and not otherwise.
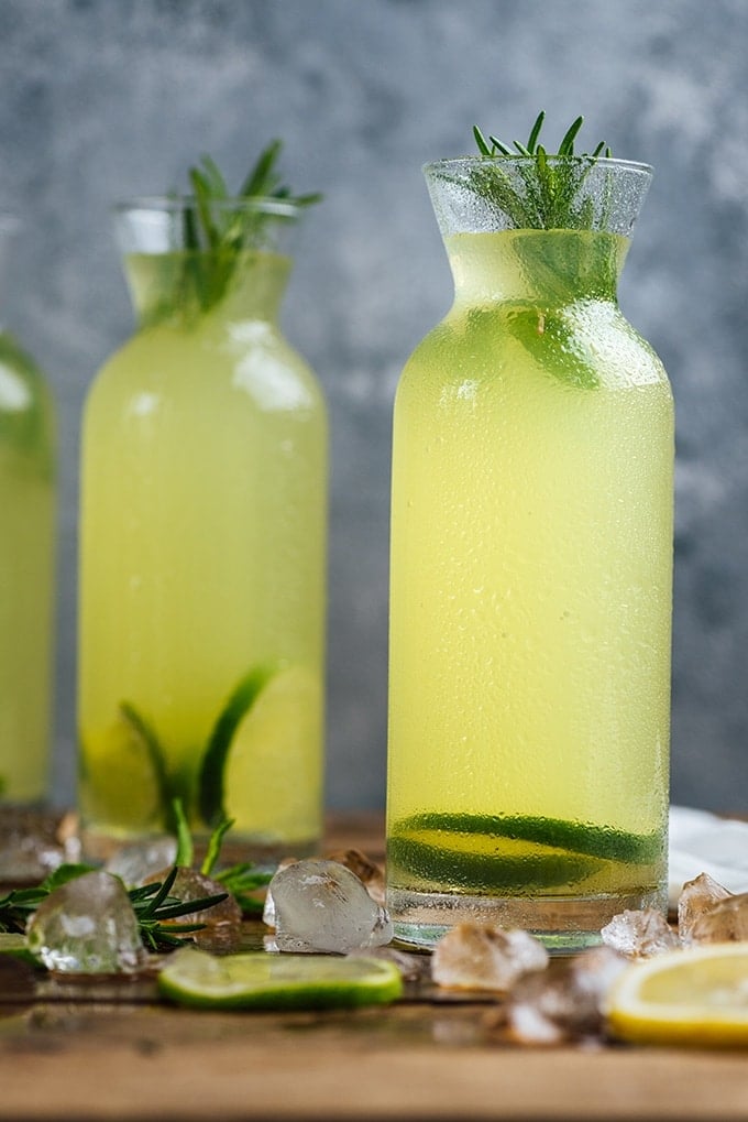
[[[82,737],[81,757],[81,801],[89,821],[123,831],[163,828],[168,800],[161,765],[130,705],[120,706],[108,728]]]

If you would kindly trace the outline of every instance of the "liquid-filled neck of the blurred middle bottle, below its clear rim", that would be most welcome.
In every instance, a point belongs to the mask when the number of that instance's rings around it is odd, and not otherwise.
[[[124,272],[140,327],[274,322],[292,260],[257,250],[220,256],[202,250],[128,254]]]

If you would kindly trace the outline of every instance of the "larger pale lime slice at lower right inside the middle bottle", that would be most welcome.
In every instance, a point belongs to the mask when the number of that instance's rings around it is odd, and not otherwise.
[[[315,837],[321,791],[322,687],[304,666],[267,682],[238,726],[224,771],[234,829],[288,839]]]

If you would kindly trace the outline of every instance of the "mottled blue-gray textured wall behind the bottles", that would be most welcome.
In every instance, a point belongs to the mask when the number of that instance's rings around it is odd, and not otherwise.
[[[46,367],[63,463],[56,798],[73,793],[79,420],[131,313],[109,204],[238,184],[274,136],[306,222],[285,305],[332,416],[327,799],[379,806],[390,413],[451,284],[421,176],[551,111],[650,162],[621,302],[677,416],[673,798],[748,811],[748,2],[0,0],[0,206],[27,221],[7,319]]]

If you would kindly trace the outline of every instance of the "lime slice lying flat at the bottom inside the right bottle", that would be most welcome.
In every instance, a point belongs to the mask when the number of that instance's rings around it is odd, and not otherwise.
[[[653,861],[658,836],[555,818],[422,813],[396,822],[387,862],[445,890],[516,892],[578,884],[606,862]]]

